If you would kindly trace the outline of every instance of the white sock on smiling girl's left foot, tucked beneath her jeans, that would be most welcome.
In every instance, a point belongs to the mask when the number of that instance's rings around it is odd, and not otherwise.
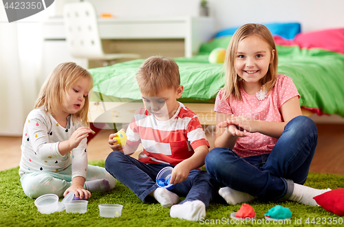
[[[255,197],[248,193],[230,189],[229,187],[219,189],[219,195],[221,195],[229,205],[235,205],[241,202],[250,202],[255,199]]]

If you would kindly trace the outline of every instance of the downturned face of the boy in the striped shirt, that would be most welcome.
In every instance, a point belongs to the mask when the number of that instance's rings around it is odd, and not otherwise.
[[[178,110],[177,99],[182,96],[184,86],[180,85],[177,89],[164,89],[154,96],[142,93],[142,100],[147,111],[151,112],[159,121],[167,121],[173,117]]]

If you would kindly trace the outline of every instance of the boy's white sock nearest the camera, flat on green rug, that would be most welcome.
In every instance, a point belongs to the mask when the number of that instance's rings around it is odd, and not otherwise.
[[[206,217],[206,205],[200,200],[177,204],[171,207],[170,216],[200,222],[201,217]]]

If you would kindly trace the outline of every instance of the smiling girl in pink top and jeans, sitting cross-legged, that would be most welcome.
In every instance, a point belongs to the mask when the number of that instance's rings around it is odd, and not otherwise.
[[[277,49],[264,25],[246,24],[233,35],[224,62],[226,83],[215,101],[215,149],[206,156],[208,173],[225,187],[228,204],[292,200],[316,206],[327,190],[303,186],[318,132],[302,116],[299,93],[277,74]]]

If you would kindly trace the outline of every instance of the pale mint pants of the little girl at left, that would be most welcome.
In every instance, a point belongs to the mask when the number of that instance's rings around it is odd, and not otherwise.
[[[87,166],[87,179],[109,181],[111,189],[116,185],[116,179],[111,176],[103,167],[94,165]],[[40,195],[53,193],[59,198],[63,197],[63,193],[72,185],[72,165],[69,165],[64,171],[58,173],[52,172],[34,172],[21,176],[21,187],[23,187],[25,195],[35,199]],[[85,188],[85,185],[84,185]]]

